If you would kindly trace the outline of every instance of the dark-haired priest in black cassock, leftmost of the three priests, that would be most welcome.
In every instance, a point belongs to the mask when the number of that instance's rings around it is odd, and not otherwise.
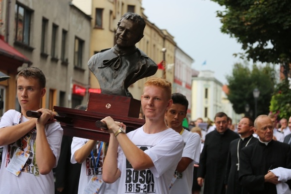
[[[216,130],[205,137],[200,155],[197,182],[204,194],[225,194],[224,178],[230,143],[239,138],[238,134],[228,129],[228,116],[224,112],[215,115]]]

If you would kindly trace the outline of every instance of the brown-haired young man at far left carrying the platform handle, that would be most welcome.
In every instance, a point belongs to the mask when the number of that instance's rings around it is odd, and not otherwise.
[[[54,194],[52,169],[58,164],[63,131],[55,113],[40,108],[46,78],[39,68],[27,67],[16,80],[21,112],[8,110],[0,122],[0,194]],[[27,110],[42,114],[31,118]]]

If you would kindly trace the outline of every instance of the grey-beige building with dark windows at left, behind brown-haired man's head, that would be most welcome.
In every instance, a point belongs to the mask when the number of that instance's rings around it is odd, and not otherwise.
[[[13,70],[5,69],[11,62],[0,64],[0,70],[10,76],[8,84],[0,82],[7,91],[5,110],[19,109],[14,98],[15,76],[27,66],[39,67],[46,75],[47,94],[42,107],[86,104],[91,17],[71,0],[0,0],[0,10],[0,35],[29,60]]]

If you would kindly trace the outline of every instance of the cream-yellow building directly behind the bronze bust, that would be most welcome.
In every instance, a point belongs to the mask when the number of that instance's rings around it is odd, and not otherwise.
[[[136,47],[144,51],[157,64],[162,60],[165,60],[166,64],[174,64],[176,47],[174,37],[167,30],[159,29],[147,19],[143,13],[142,0],[87,0],[85,3],[83,0],[73,0],[72,3],[92,17],[91,56],[115,45],[118,21],[124,13],[134,12],[141,15],[146,22],[144,37],[136,44]],[[163,48],[167,51],[163,52]],[[166,76],[171,83],[174,82],[174,72],[166,72],[164,69],[158,69],[152,77],[163,76]],[[147,79],[149,78],[139,80],[128,88],[135,99],[140,99],[143,84]],[[90,73],[90,87],[100,92],[98,80],[93,73]]]

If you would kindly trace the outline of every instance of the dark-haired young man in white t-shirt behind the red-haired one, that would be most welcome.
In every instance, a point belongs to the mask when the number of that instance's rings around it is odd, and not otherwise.
[[[180,94],[172,95],[173,104],[166,111],[165,119],[168,126],[181,135],[184,140],[182,158],[179,161],[175,178],[171,183],[170,194],[191,194],[194,164],[199,163],[201,140],[197,133],[191,133],[182,126],[187,115],[188,100]]]

